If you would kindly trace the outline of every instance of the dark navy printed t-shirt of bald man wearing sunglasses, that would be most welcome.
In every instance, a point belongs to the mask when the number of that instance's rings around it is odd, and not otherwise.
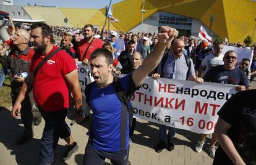
[[[223,65],[215,66],[207,71],[203,79],[207,82],[216,82],[221,84],[234,84],[249,87],[247,76],[239,68],[226,70]]]

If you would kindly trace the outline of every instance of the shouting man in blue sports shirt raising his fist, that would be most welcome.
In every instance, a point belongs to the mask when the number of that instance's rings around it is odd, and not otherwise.
[[[129,158],[130,100],[137,88],[160,62],[168,42],[177,30],[162,26],[155,49],[132,74],[118,79],[112,74],[113,56],[109,50],[98,49],[90,59],[94,82],[85,89],[92,107],[93,119],[85,148],[83,164],[103,164],[105,158],[113,164],[127,164]],[[87,93],[88,87],[90,92]],[[122,96],[122,97],[121,97]]]

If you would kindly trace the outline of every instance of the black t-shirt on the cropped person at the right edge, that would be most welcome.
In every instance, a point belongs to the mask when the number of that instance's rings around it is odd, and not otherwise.
[[[238,92],[229,99],[218,115],[230,124],[228,136],[245,164],[256,164],[256,90]],[[233,164],[221,146],[213,164]]]

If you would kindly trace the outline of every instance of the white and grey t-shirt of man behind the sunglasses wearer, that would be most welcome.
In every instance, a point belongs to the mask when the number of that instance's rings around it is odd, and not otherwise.
[[[207,57],[203,58],[201,63],[202,66],[206,66],[205,73],[213,68],[214,66],[223,65],[223,54],[220,54],[218,57],[215,57],[213,54],[207,55]]]

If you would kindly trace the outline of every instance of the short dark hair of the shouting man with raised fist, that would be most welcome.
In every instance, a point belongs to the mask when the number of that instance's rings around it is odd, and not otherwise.
[[[111,54],[111,52],[108,49],[100,48],[100,49],[94,50],[94,52],[91,55],[90,60],[93,60],[97,57],[105,57],[108,65],[111,65],[114,63],[113,55]]]

